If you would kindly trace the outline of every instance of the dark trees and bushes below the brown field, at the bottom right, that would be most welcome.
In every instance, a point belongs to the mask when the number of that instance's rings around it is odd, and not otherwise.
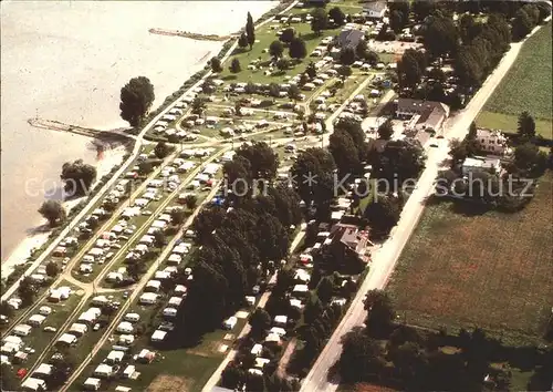
[[[397,324],[392,299],[380,290],[368,292],[365,309],[366,327],[354,329],[343,340],[337,365],[343,382],[378,382],[399,390],[468,391],[481,390],[484,375],[491,372],[497,390],[509,389],[510,374],[490,369],[497,342],[481,329],[461,329],[458,337],[448,340],[445,330],[421,333]],[[457,351],[440,349],[451,342]]]

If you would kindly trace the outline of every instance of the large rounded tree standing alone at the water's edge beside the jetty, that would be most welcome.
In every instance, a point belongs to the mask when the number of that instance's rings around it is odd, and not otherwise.
[[[145,76],[133,78],[121,89],[121,117],[131,126],[138,126],[140,120],[155,100],[154,85]]]

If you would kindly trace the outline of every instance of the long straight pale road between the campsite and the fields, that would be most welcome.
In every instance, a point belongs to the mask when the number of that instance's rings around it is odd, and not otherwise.
[[[532,33],[534,33],[535,29]],[[467,107],[445,125],[446,138],[439,143],[438,148],[428,152],[428,161],[417,188],[407,200],[398,225],[390,234],[390,238],[373,255],[371,271],[354,298],[347,313],[332,334],[328,343],[316,360],[307,376],[304,379],[301,391],[333,392],[340,384],[338,379],[327,380],[330,368],[340,359],[342,352],[341,339],[354,327],[361,326],[365,318],[363,300],[367,291],[383,289],[394,270],[394,267],[409,239],[413,230],[425,208],[426,198],[434,193],[434,180],[438,174],[441,162],[448,156],[447,142],[452,138],[462,138],[468,132],[470,123],[476,118],[490,97],[501,79],[507,74],[520,52],[522,43],[512,43],[495,71],[487,79],[479,92],[472,97]]]

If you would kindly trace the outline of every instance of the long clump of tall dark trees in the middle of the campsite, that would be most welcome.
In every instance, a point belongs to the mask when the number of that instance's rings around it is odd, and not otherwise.
[[[179,309],[176,333],[186,343],[219,327],[286,258],[288,229],[301,220],[300,199],[293,189],[271,185],[276,168],[278,157],[265,143],[240,147],[223,166],[226,205],[211,205],[196,217],[192,227],[201,247],[191,261],[194,280]],[[253,192],[255,182],[267,184],[260,185],[261,194]],[[238,192],[238,183],[248,188]]]

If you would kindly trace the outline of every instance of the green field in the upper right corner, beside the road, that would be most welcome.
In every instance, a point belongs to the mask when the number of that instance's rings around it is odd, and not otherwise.
[[[536,120],[538,133],[553,137],[551,23],[523,44],[515,63],[478,116],[478,125],[515,132],[518,115],[528,111]]]

